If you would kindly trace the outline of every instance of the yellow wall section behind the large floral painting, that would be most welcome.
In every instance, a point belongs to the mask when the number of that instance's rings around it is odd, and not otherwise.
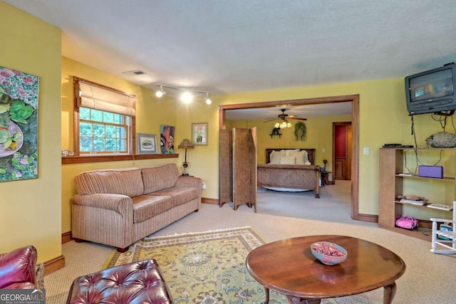
[[[38,179],[0,182],[0,252],[44,262],[61,256],[61,31],[1,1],[0,19],[0,65],[39,78]]]

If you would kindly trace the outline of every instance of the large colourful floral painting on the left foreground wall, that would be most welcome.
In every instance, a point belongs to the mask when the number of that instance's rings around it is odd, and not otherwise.
[[[38,77],[0,66],[0,182],[38,178]]]

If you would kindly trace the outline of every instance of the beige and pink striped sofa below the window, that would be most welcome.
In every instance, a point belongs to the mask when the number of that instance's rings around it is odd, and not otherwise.
[[[175,164],[82,172],[75,183],[73,238],[120,252],[201,204],[201,179],[180,176]]]

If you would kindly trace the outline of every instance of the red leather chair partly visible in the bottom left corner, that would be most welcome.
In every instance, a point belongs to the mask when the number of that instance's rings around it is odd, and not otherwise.
[[[33,246],[0,253],[0,288],[36,289],[36,258],[36,248]]]

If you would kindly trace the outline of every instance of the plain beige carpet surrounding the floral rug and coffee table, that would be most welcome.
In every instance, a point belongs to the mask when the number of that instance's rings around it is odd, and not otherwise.
[[[329,189],[330,187],[332,186],[326,188]],[[325,202],[325,197],[322,197],[316,208],[325,209]],[[276,201],[276,204],[281,204],[281,208],[287,207],[284,201]],[[261,209],[262,205],[259,204],[258,207]],[[305,208],[305,206],[296,208]],[[326,208],[326,212],[331,212],[331,208]],[[268,241],[316,234],[354,236],[378,243],[380,246],[395,252],[405,261],[407,270],[396,282],[398,291],[393,303],[455,303],[456,256],[431,253],[430,242],[378,229],[377,225],[373,223],[366,224],[349,219],[343,219],[343,221],[348,221],[348,223],[274,216],[261,214],[261,211],[255,214],[253,209],[245,205],[239,206],[239,209],[234,211],[229,204],[225,204],[221,208],[217,205],[202,204],[199,212],[185,216],[185,218],[157,231],[152,236],[168,236],[244,226],[251,226],[254,231],[258,231]],[[113,248],[96,243],[71,241],[63,244],[62,251],[66,259],[65,268],[44,278],[47,304],[65,303],[68,288],[70,288],[74,278],[102,269],[103,264],[113,252]],[[363,303],[362,301],[383,303],[383,290],[381,288],[358,296],[359,298],[351,297],[353,302],[347,302],[347,304]]]

